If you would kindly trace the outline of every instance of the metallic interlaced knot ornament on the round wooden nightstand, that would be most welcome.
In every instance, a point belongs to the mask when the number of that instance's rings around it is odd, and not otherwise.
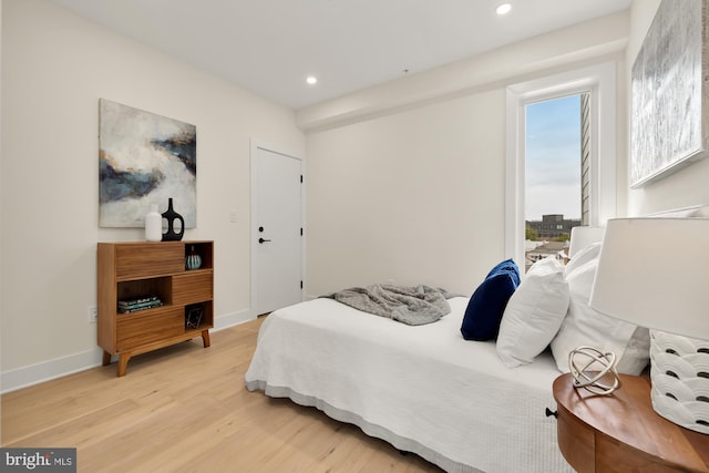
[[[593,347],[578,347],[568,353],[568,368],[574,388],[584,388],[594,394],[610,394],[620,387],[616,371],[616,353],[604,353]],[[613,383],[604,380],[613,378]]]

